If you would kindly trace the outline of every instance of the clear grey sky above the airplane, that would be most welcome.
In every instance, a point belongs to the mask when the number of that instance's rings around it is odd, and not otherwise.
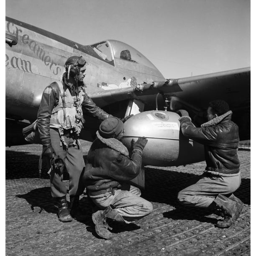
[[[250,66],[249,0],[7,0],[5,14],[79,44],[123,41],[166,78]]]

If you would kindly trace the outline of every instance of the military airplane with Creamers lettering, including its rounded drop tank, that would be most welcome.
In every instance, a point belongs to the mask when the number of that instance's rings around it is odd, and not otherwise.
[[[86,59],[84,83],[91,99],[125,122],[124,143],[146,136],[143,163],[177,166],[204,159],[202,145],[180,132],[178,109],[193,123],[205,122],[211,100],[229,103],[240,138],[250,136],[250,67],[179,79],[165,79],[143,54],[120,41],[78,44],[6,17],[6,145],[25,144],[22,128],[36,120],[44,88],[58,81],[69,56]],[[84,113],[84,115],[87,115]],[[92,141],[99,122],[86,118],[81,138]]]

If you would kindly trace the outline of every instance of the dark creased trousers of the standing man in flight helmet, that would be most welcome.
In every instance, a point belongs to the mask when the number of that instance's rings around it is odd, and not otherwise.
[[[84,159],[82,147],[78,148],[77,145],[73,146],[73,138],[67,138],[64,136],[65,141],[68,145],[68,150],[65,150],[63,146],[60,146],[60,136],[59,131],[50,128],[51,145],[54,151],[65,163],[60,171],[54,169],[51,170],[50,183],[51,183],[51,196],[52,197],[63,197],[67,194],[67,188],[62,182],[64,168],[67,169],[69,174],[69,195],[81,195],[84,191],[84,184],[82,182],[82,173],[84,172]],[[51,168],[50,159],[47,159],[47,168]]]

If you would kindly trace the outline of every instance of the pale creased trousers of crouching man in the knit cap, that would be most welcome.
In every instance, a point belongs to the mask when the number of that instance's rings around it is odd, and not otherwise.
[[[90,193],[89,193],[90,194]],[[108,205],[114,205],[117,211],[127,221],[143,218],[153,211],[153,205],[140,197],[141,190],[131,186],[130,190],[115,190],[115,194],[107,192],[102,195],[90,196],[92,201],[100,209],[105,209]]]

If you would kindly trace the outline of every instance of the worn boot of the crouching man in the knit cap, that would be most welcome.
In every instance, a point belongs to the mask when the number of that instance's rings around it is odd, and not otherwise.
[[[107,214],[108,207],[105,210],[98,210],[97,212],[92,213],[92,221],[95,224],[95,231],[97,235],[105,239],[110,239],[113,235],[108,230]]]

